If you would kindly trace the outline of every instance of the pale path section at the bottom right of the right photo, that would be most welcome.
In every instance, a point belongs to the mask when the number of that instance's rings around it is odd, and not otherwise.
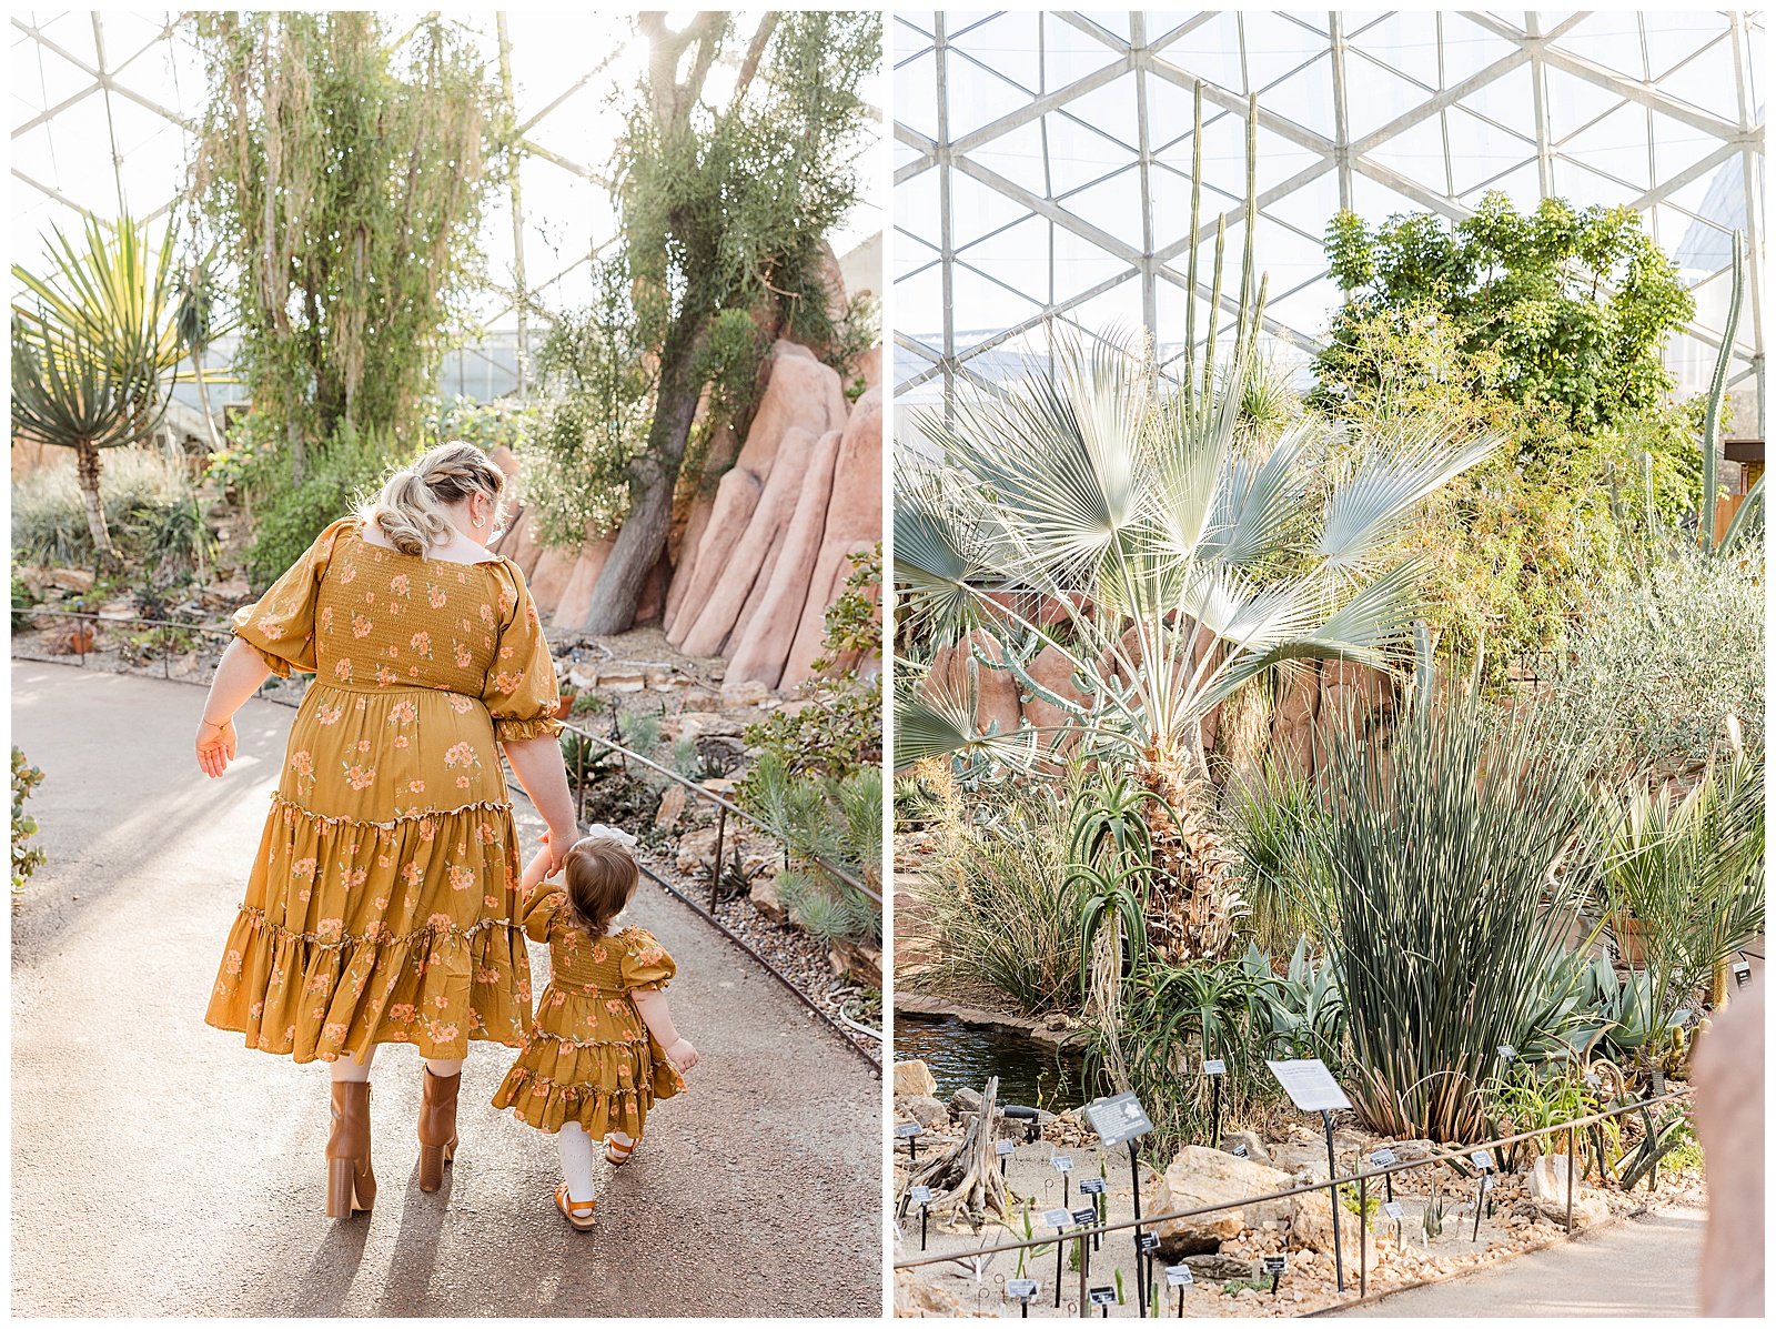
[[[1671,1208],[1472,1274],[1410,1288],[1343,1318],[1671,1318],[1701,1313],[1696,1270],[1709,1215]]]

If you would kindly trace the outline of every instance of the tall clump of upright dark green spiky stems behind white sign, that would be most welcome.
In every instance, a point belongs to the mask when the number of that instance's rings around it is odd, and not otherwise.
[[[1591,755],[1474,696],[1419,709],[1384,750],[1334,732],[1304,821],[1304,903],[1337,967],[1346,1089],[1375,1130],[1437,1141],[1485,1128],[1501,1045],[1524,1046],[1595,887],[1613,819]]]

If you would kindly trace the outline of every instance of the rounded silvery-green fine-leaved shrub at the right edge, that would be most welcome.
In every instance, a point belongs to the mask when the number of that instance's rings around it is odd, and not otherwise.
[[[1762,759],[1765,590],[1762,567],[1694,553],[1611,577],[1563,643],[1549,709],[1625,771],[1701,768],[1728,716]]]

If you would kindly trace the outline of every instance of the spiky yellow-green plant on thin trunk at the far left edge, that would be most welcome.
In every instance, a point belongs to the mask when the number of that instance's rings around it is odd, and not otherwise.
[[[50,277],[12,267],[30,297],[12,306],[12,435],[75,451],[92,545],[108,558],[99,451],[160,428],[160,377],[183,352],[167,309],[172,224],[153,251],[130,217],[115,227],[89,217],[85,242],[57,229]]]

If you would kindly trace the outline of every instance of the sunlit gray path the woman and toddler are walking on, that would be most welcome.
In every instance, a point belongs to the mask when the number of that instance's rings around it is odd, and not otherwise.
[[[377,1208],[327,1219],[325,1068],[202,1022],[295,712],[249,702],[211,782],[202,700],[12,661],[50,855],[12,910],[14,1315],[879,1315],[881,1080],[646,881],[632,915],[678,961],[703,1064],[629,1167],[600,1164],[600,1230],[556,1214],[554,1139],[488,1105],[511,1062],[488,1043],[430,1196],[419,1061],[382,1050]]]

